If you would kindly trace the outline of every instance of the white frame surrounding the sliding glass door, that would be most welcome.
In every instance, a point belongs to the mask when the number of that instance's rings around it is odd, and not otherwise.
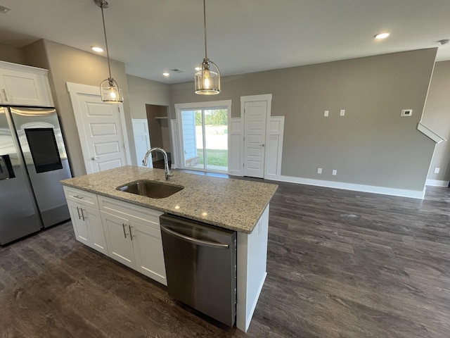
[[[231,123],[231,100],[222,100],[222,101],[206,101],[206,102],[191,102],[186,104],[175,104],[175,113],[176,113],[176,123],[170,124],[170,127],[172,128],[171,132],[172,135],[177,135],[178,137],[172,137],[172,145],[174,152],[173,158],[172,158],[172,166],[173,162],[176,161],[176,166],[174,168],[184,168],[184,152],[182,151],[182,140],[183,140],[183,128],[182,128],[182,121],[181,121],[181,111],[186,109],[214,109],[214,108],[220,108],[220,107],[227,107],[227,118],[226,118],[226,124],[227,124],[227,130],[230,130],[230,123]],[[228,136],[228,143],[229,143],[230,137]],[[229,144],[228,144],[229,148]],[[230,151],[230,149],[228,149]],[[228,165],[228,171],[230,170],[230,165]],[[205,170],[199,170],[199,171],[205,171]]]

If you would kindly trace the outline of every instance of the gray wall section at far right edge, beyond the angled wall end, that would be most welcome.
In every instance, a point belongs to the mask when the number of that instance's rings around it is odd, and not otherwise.
[[[428,93],[423,124],[447,141],[437,144],[429,180],[450,181],[450,61],[437,62]],[[435,168],[439,173],[435,174]]]

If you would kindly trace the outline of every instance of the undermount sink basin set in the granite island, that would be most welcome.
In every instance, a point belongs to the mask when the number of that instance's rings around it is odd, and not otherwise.
[[[152,199],[164,199],[165,197],[172,196],[176,192],[179,192],[184,189],[184,187],[156,181],[140,180],[129,182],[115,189],[122,192],[150,197]]]

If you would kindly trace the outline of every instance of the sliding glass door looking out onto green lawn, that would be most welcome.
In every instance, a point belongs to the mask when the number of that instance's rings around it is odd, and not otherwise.
[[[181,108],[184,168],[228,172],[229,108]]]

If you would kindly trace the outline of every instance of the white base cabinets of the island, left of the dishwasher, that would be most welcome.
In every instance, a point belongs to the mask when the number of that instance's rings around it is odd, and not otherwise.
[[[161,212],[70,187],[64,192],[79,242],[167,285]]]

